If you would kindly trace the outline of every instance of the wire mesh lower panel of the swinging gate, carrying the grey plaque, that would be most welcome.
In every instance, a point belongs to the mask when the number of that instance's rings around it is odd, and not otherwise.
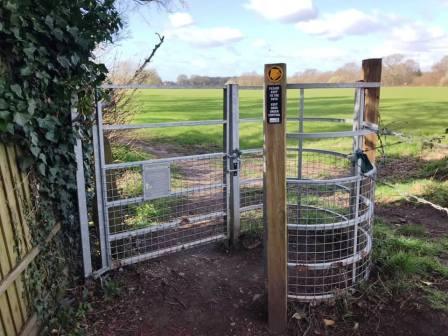
[[[108,165],[105,189],[112,261],[131,263],[223,238],[223,158],[213,154]]]

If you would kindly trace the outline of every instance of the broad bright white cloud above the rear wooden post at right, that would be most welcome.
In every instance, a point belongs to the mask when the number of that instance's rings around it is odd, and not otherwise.
[[[400,21],[396,16],[383,15],[378,12],[364,13],[357,9],[347,9],[327,13],[320,19],[299,22],[296,27],[305,33],[328,39],[339,39],[346,35],[363,35],[390,27]]]

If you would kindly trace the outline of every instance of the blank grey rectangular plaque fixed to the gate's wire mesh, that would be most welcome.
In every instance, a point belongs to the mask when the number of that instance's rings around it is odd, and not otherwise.
[[[170,165],[147,164],[143,166],[143,198],[151,200],[154,198],[168,196],[171,193]]]

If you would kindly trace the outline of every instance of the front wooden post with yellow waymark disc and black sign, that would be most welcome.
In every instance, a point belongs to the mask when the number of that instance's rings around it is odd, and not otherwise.
[[[286,64],[264,68],[264,216],[269,329],[287,326]]]

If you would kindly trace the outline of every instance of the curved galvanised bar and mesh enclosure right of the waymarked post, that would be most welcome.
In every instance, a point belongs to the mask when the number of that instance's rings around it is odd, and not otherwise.
[[[376,169],[363,162],[364,136],[374,132],[363,126],[363,97],[357,89],[352,131],[310,134],[301,92],[299,132],[288,133],[298,142],[287,151],[290,300],[329,299],[368,276]],[[305,138],[320,137],[352,138],[352,154],[304,148]]]

